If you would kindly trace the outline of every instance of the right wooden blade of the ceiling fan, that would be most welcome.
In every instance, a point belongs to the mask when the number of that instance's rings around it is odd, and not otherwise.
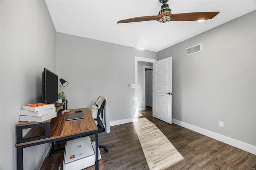
[[[190,12],[172,14],[171,21],[196,21],[196,20],[209,20],[215,17],[220,12]]]

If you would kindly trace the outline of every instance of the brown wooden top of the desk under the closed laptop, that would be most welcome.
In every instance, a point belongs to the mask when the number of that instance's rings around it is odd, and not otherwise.
[[[67,114],[75,113],[77,110],[82,110],[84,113],[84,119],[77,119],[72,121],[66,121]],[[24,142],[20,144],[16,144],[16,146],[22,146],[26,144],[36,143],[36,142],[42,142],[52,139],[58,139],[65,136],[71,136],[75,134],[82,134],[85,132],[90,132],[98,130],[98,127],[90,113],[90,110],[88,108],[81,108],[81,109],[71,109],[71,113],[57,113],[57,117],[50,120],[50,137],[44,138],[40,140],[34,140],[30,142]],[[26,134],[26,138],[38,136],[40,134],[44,133],[44,128],[33,128]]]

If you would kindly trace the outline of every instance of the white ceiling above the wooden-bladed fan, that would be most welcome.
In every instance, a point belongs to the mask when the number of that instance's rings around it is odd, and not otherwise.
[[[220,13],[201,23],[117,24],[127,18],[158,15],[162,4],[159,0],[46,0],[46,4],[57,32],[156,52],[256,10],[256,0],[169,0],[173,14]]]

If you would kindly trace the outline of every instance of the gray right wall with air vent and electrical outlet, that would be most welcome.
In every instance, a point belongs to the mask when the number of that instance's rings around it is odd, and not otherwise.
[[[255,21],[253,11],[158,52],[173,57],[174,119],[256,146]]]

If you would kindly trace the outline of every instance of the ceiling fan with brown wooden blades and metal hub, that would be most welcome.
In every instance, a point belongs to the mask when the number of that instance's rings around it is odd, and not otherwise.
[[[141,21],[158,21],[161,23],[169,21],[197,21],[197,20],[209,20],[214,18],[219,12],[190,12],[190,13],[180,13],[172,14],[172,10],[169,5],[166,4],[168,0],[159,0],[161,4],[161,9],[158,15],[155,16],[139,16],[134,18],[128,18],[125,20],[120,20],[117,23],[128,23],[128,22],[141,22]]]

